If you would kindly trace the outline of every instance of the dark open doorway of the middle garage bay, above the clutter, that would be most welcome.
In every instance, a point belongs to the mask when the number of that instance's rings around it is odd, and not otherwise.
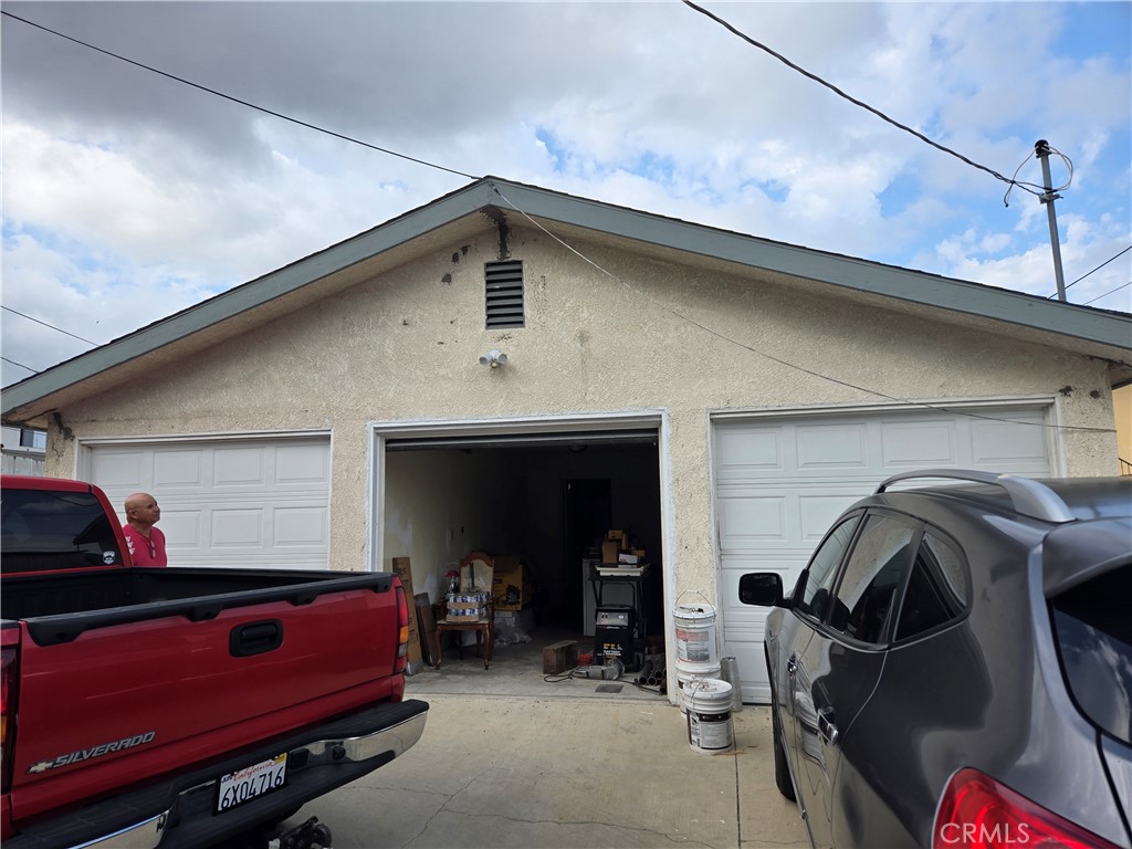
[[[524,580],[513,582],[521,609],[501,617],[504,644],[514,623],[520,638],[573,638],[590,652],[600,602],[634,608],[643,654],[648,637],[662,642],[664,627],[658,446],[657,426],[391,434],[381,454],[383,560],[410,557],[414,592],[439,603],[444,575],[472,551],[521,559]],[[644,552],[648,569],[636,586],[591,581],[610,531],[625,532],[628,547]]]

